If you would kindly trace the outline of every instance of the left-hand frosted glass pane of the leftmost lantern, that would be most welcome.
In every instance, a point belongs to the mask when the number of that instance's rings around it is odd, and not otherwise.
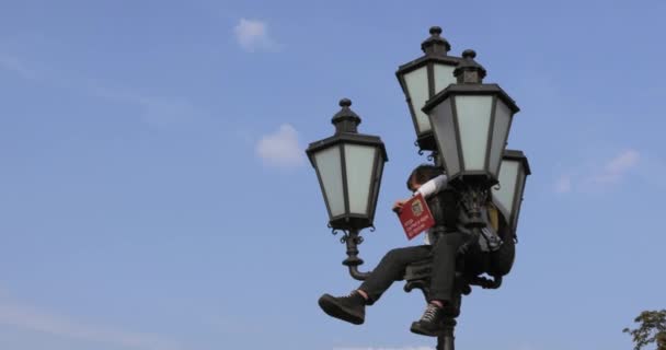
[[[324,187],[324,196],[331,210],[331,217],[345,213],[345,199],[342,187],[342,163],[340,147],[332,147],[314,154],[317,168]]]

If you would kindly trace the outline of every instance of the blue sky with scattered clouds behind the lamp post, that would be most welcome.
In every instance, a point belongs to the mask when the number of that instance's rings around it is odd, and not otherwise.
[[[666,2],[0,1],[0,349],[430,349],[397,283],[357,283],[308,142],[349,97],[389,154],[370,269],[425,161],[394,71],[432,25],[520,106],[512,273],[463,301],[459,349],[630,349],[664,308]]]

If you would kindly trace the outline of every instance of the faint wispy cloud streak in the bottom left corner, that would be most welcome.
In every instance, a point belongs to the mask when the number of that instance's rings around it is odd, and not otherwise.
[[[76,340],[113,343],[139,350],[181,349],[177,343],[160,336],[131,332],[72,320],[66,316],[9,301],[2,294],[0,294],[0,324]]]

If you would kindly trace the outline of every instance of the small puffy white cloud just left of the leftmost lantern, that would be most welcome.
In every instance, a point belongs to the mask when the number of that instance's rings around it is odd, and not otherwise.
[[[298,147],[298,132],[288,124],[261,138],[255,151],[267,165],[290,167],[303,163],[303,151]]]

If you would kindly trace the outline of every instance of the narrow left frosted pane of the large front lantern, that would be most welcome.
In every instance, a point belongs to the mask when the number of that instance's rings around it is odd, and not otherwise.
[[[450,98],[443,101],[430,110],[430,122],[435,140],[437,140],[437,148],[441,152],[448,175],[455,176],[460,172],[460,159],[458,158],[458,147],[456,145],[456,126],[453,124]]]

